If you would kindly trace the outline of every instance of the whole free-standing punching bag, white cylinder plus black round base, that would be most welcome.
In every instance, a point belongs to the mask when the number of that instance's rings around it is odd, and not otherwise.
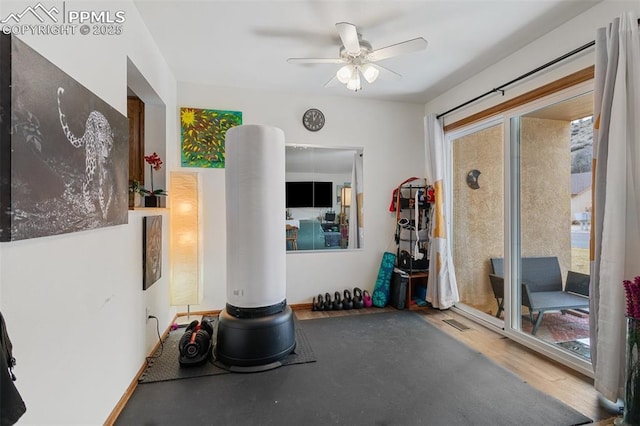
[[[262,371],[296,346],[286,301],[284,133],[238,126],[225,144],[227,304],[214,354],[232,370]]]

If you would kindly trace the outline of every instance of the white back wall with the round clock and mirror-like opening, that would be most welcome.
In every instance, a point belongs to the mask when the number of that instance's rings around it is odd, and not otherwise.
[[[365,244],[361,250],[287,254],[287,301],[311,302],[313,296],[358,286],[371,290],[385,250],[395,250],[391,191],[424,170],[423,106],[268,93],[181,83],[181,107],[242,111],[244,124],[268,124],[284,131],[286,143],[364,149]],[[319,132],[302,127],[308,108],[322,110]],[[179,139],[174,149],[179,152]],[[226,227],[224,170],[194,169],[202,174],[205,194],[204,300],[195,309],[226,303]],[[268,226],[268,224],[265,224]],[[283,232],[284,235],[284,232]],[[193,307],[192,307],[193,308]]]

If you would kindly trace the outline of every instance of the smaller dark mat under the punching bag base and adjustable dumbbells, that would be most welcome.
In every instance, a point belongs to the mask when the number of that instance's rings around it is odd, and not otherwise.
[[[198,366],[180,367],[178,361],[180,355],[178,344],[184,331],[184,328],[179,328],[169,333],[163,342],[164,347],[162,349],[158,348],[154,354],[154,358],[149,361],[147,368],[140,375],[138,383],[154,383],[200,376],[215,376],[231,372],[228,370],[228,367],[223,364],[210,361]],[[160,354],[160,356],[155,358],[158,354]],[[307,339],[304,331],[296,325],[296,348],[293,353],[281,360],[280,363],[282,366],[286,366],[314,362],[315,360],[309,339]]]

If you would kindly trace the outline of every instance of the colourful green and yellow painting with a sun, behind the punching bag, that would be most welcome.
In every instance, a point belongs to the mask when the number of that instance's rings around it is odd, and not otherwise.
[[[242,112],[180,108],[182,167],[223,169],[227,130],[242,124]]]

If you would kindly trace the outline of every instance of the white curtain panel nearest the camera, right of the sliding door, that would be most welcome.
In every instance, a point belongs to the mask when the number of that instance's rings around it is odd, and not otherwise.
[[[591,250],[595,388],[624,397],[622,281],[640,275],[640,38],[633,13],[596,35]]]

